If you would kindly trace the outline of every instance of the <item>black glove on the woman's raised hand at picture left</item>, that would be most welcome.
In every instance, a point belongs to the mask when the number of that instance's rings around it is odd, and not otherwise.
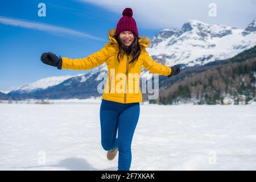
[[[62,59],[60,57],[57,57],[52,52],[44,52],[44,53],[42,53],[41,61],[44,64],[51,65],[53,67],[57,67],[58,69],[61,69]]]

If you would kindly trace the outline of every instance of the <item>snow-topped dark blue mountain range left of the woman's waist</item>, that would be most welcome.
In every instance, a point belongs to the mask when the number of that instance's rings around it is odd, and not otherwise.
[[[69,99],[69,98],[89,98],[99,97],[97,85],[102,80],[97,80],[98,75],[106,77],[106,67],[101,65],[93,69],[92,72],[67,77],[49,77],[40,80],[40,84],[22,86],[18,90],[13,90],[7,95],[13,100],[24,100],[26,98],[34,99]],[[103,80],[106,81],[106,80]],[[36,86],[35,86],[36,85]],[[26,88],[26,89],[24,89]],[[43,89],[45,88],[45,89]]]

